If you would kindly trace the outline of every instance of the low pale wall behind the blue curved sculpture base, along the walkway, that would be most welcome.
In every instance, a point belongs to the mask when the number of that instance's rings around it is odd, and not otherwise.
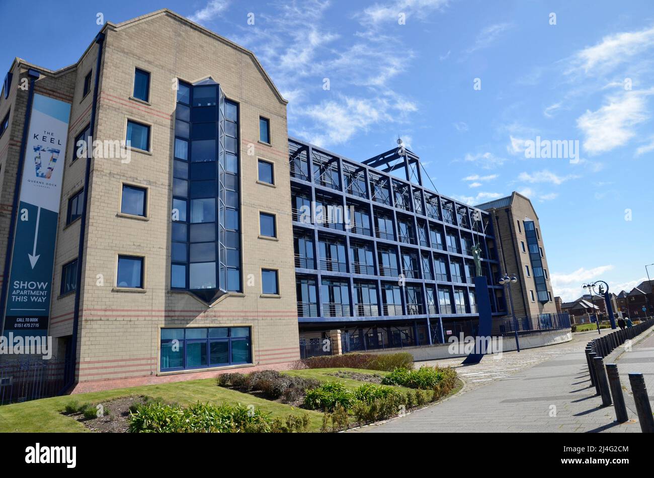
[[[519,340],[521,349],[533,349],[556,343],[570,342],[572,340],[572,332],[570,328],[565,328],[562,330],[549,330],[548,332],[536,332],[534,334],[521,334]],[[421,362],[422,360],[438,360],[439,358],[466,357],[468,355],[466,353],[450,353],[449,347],[449,343],[439,343],[438,345],[420,345],[419,347],[371,350],[366,353],[408,352],[413,355],[413,360],[416,362]],[[505,336],[502,338],[503,352],[511,352],[516,349],[515,336]]]

